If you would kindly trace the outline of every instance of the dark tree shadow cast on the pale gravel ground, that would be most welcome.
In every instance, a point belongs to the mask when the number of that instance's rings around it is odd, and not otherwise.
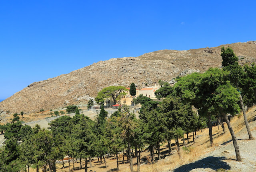
[[[179,168],[173,170],[173,172],[189,172],[190,170],[196,168],[211,168],[212,170],[223,168],[225,170],[230,170],[231,167],[223,161],[224,159],[225,157],[209,156],[196,162],[180,166]]]

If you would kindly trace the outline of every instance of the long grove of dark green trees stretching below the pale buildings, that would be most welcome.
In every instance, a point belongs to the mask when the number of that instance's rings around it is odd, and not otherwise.
[[[130,113],[127,107],[119,108],[109,118],[102,104],[100,113],[92,121],[89,117],[79,114],[72,117],[62,116],[49,123],[48,129],[41,129],[38,125],[31,128],[22,125],[20,121],[6,126],[6,146],[0,151],[0,171],[16,172],[26,168],[47,167],[56,171],[56,160],[64,156],[74,159],[85,159],[85,171],[91,157],[98,157],[107,168],[105,154],[115,154],[117,168],[119,168],[118,152],[127,152],[131,171],[132,159],[136,157],[138,171],[140,171],[140,152],[149,145],[151,156],[154,148],[160,157],[160,143],[183,137],[184,132],[200,129],[202,123],[188,104],[182,104],[176,99],[167,98],[162,105],[146,96],[140,95],[136,101],[142,104],[140,119]],[[172,104],[172,105],[170,105]],[[192,122],[193,121],[193,122]],[[171,127],[172,126],[172,127]],[[185,144],[186,145],[186,144]],[[179,145],[178,145],[179,146]],[[135,156],[131,152],[134,149]],[[179,148],[178,148],[179,149]],[[103,160],[102,160],[103,158]],[[124,157],[123,157],[124,161]],[[70,168],[70,166],[69,166]]]

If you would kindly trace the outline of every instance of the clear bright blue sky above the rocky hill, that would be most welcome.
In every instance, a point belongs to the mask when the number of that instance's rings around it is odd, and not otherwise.
[[[0,1],[0,100],[117,57],[256,40],[256,2]]]

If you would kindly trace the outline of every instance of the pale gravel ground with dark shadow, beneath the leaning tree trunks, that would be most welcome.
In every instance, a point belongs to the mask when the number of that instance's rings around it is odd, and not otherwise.
[[[256,121],[249,125],[253,137],[256,138]],[[200,160],[180,166],[172,172],[215,172],[220,168],[231,172],[256,172],[256,140],[248,140],[246,127],[236,133],[236,138],[242,162],[236,161],[233,142],[229,140],[215,147],[214,151],[206,153]]]

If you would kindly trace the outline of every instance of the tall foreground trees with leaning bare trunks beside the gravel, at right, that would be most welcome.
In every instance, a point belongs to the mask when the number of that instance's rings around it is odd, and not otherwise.
[[[256,100],[256,94],[252,94],[255,88],[255,76],[253,74],[255,74],[256,68],[254,64],[240,66],[238,57],[231,48],[222,47],[221,56],[222,69],[210,68],[202,74],[193,73],[180,77],[172,88],[174,91],[172,94],[178,96],[182,102],[192,104],[198,109],[200,116],[208,118],[211,145],[213,145],[211,116],[222,117],[231,133],[236,158],[238,161],[242,161],[227,114],[235,115],[240,113],[240,109],[242,109],[249,139],[254,139],[250,132],[242,97],[248,106],[252,106],[252,102]],[[166,92],[168,90],[164,90],[163,95]],[[161,96],[158,92],[158,97]]]

